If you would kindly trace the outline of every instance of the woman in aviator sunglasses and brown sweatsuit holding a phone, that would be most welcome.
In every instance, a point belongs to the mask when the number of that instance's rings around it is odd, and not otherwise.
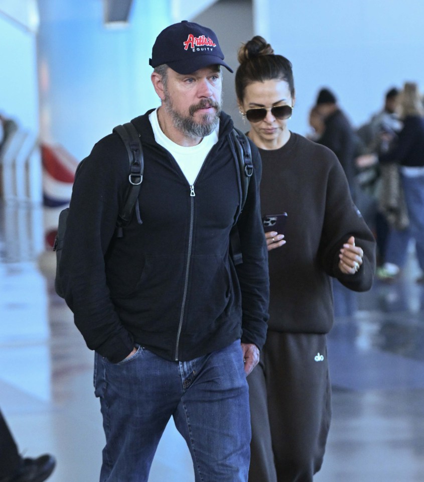
[[[370,289],[375,240],[336,156],[288,129],[295,105],[289,60],[259,36],[240,48],[238,60],[238,104],[263,164],[262,214],[288,214],[285,233],[265,234],[270,319],[260,362],[248,377],[249,482],[308,482],[321,467],[331,416],[330,277],[355,291]],[[283,237],[287,244],[278,249]]]

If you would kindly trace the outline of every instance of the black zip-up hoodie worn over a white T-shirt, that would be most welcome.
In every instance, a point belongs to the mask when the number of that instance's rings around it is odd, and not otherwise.
[[[60,264],[65,300],[87,346],[116,363],[134,343],[169,360],[189,360],[241,338],[265,341],[269,282],[261,224],[261,162],[238,219],[243,264],[234,267],[229,234],[240,176],[221,113],[218,142],[191,187],[157,144],[145,115],[133,119],[145,168],[133,215],[114,235],[128,186],[128,158],[117,134],[101,139],[75,178]],[[193,194],[195,194],[193,196]]]

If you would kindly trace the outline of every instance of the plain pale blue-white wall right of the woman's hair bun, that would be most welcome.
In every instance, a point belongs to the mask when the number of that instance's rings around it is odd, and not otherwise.
[[[309,108],[330,87],[355,126],[404,81],[424,89],[424,3],[418,0],[256,0],[256,34],[292,61],[297,105],[291,129],[308,131]]]

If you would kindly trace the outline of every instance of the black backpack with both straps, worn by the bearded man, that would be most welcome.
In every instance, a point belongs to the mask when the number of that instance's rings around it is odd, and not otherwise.
[[[122,237],[123,227],[131,219],[132,212],[135,209],[137,221],[142,224],[143,221],[140,218],[139,206],[138,206],[138,193],[140,191],[140,186],[143,181],[143,171],[144,171],[144,158],[143,158],[143,147],[140,141],[140,135],[133,126],[131,122],[127,122],[123,125],[116,126],[113,128],[113,132],[119,135],[122,142],[125,145],[128,161],[129,161],[129,175],[128,175],[128,189],[125,195],[125,202],[123,203],[122,209],[118,214],[116,220],[116,230],[115,235],[117,237]],[[235,153],[235,158],[237,159],[237,164],[239,167],[239,180],[241,185],[241,203],[239,211],[236,215],[234,225],[230,233],[230,247],[231,256],[235,265],[243,262],[240,249],[240,240],[238,237],[238,231],[236,222],[238,216],[243,210],[244,203],[247,197],[247,190],[249,187],[250,177],[253,173],[252,155],[250,150],[250,144],[247,140],[245,134],[243,134],[238,129],[234,128],[231,132],[231,144]],[[82,162],[79,163],[76,173]],[[75,173],[75,174],[76,174]],[[59,214],[59,222],[57,228],[57,234],[55,242],[53,245],[53,251],[56,252],[56,277],[55,277],[55,291],[60,297],[64,297],[62,283],[59,275],[59,264],[62,254],[62,248],[66,232],[66,220],[68,218],[69,207],[63,209]]]

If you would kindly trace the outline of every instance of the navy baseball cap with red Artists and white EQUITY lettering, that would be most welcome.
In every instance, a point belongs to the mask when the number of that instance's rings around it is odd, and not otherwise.
[[[191,74],[208,65],[224,62],[224,54],[214,32],[194,22],[183,20],[164,29],[156,38],[149,59],[152,67],[167,64],[179,74]]]

